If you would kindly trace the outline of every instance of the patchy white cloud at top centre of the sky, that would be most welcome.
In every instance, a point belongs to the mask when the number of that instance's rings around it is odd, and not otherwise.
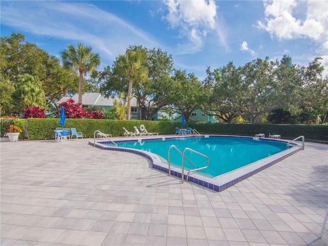
[[[226,45],[222,30],[216,19],[216,4],[214,0],[167,0],[169,13],[163,16],[170,27],[179,28],[179,37],[187,38],[188,42],[179,46],[181,53],[194,53],[203,46],[203,39],[209,33],[219,36],[220,43]]]

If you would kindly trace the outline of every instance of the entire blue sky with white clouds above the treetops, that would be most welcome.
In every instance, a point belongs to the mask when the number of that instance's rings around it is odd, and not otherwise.
[[[160,48],[195,73],[256,59],[306,66],[322,57],[328,75],[328,1],[4,1],[1,36],[22,33],[49,54],[82,43],[112,65],[129,45]]]

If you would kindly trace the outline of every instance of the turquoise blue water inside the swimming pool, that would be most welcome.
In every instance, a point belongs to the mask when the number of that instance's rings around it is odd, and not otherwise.
[[[185,148],[191,148],[210,158],[209,168],[199,171],[203,175],[218,176],[230,172],[237,168],[248,165],[257,160],[269,157],[278,152],[286,150],[286,144],[279,141],[267,139],[253,140],[245,137],[188,137],[178,139],[166,139],[163,141],[141,141],[141,142],[120,142],[119,147],[133,148],[148,151],[162,156],[168,160],[168,150],[171,145],[175,145],[181,152]],[[186,152],[186,156],[197,166],[203,167],[207,164],[207,159]],[[181,154],[171,149],[171,165],[181,167]],[[185,169],[194,167],[185,160]]]

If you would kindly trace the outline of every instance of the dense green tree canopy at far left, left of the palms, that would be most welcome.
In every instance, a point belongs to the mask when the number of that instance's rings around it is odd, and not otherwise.
[[[61,67],[59,59],[49,55],[45,50],[35,44],[25,42],[24,35],[12,33],[10,37],[0,38],[1,66],[1,114],[23,114],[26,104],[18,103],[22,100],[22,83],[25,87],[32,86],[31,80],[22,80],[25,76],[32,76],[40,82],[40,90],[43,90],[44,100],[47,103],[54,102],[67,92],[75,93],[74,81],[78,79],[74,71],[68,71]],[[30,77],[31,78],[31,77]],[[17,92],[16,90],[20,90]],[[25,88],[32,90],[32,88]],[[15,92],[16,91],[16,92]],[[40,104],[38,97],[31,97],[27,104]],[[44,105],[43,107],[45,107]],[[23,108],[22,108],[23,107]]]

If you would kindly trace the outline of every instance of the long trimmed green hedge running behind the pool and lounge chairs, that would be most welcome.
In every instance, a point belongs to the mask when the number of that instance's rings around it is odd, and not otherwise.
[[[11,120],[10,120],[11,121]],[[2,127],[4,127],[4,120]],[[24,119],[15,119],[11,124],[18,125],[22,130],[25,126]],[[82,132],[84,137],[93,137],[93,133],[99,130],[113,136],[123,136],[125,127],[128,131],[134,131],[133,126],[145,125],[148,132],[158,132],[159,134],[175,134],[175,128],[181,128],[181,122],[153,121],[153,120],[110,120],[110,119],[66,119],[64,128],[76,128]],[[60,127],[57,118],[30,118],[27,119],[27,131],[29,140],[54,139],[54,129]],[[183,128],[191,127],[202,134],[222,134],[222,135],[242,135],[254,136],[257,133],[280,134],[282,138],[293,139],[304,136],[305,140],[328,141],[327,125],[274,125],[274,124],[225,124],[225,123],[204,123],[186,122]],[[20,138],[25,138],[20,134]]]

